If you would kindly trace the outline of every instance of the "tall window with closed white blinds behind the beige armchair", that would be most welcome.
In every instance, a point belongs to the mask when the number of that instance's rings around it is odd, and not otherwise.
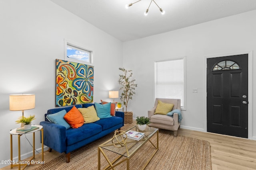
[[[180,99],[185,109],[185,64],[186,58],[155,62],[156,98]]]

